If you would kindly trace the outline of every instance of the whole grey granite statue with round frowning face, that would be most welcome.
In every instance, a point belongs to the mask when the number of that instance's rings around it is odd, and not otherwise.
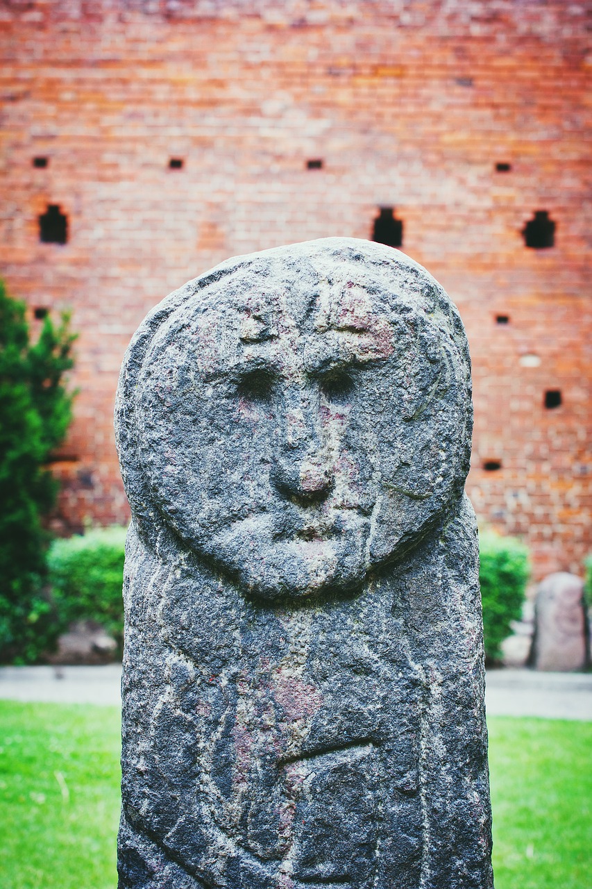
[[[116,432],[120,887],[492,886],[468,346],[327,238],[148,315]]]

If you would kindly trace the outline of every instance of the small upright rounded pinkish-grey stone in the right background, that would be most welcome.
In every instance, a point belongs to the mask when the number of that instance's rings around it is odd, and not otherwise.
[[[588,663],[584,583],[575,574],[549,574],[540,584],[534,608],[532,667],[578,670]]]

